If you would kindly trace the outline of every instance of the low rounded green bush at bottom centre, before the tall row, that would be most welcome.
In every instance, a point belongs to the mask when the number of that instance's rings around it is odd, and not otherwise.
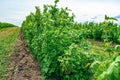
[[[91,76],[89,69],[93,58],[81,45],[71,44],[65,54],[60,56],[62,76],[64,80],[88,80]]]

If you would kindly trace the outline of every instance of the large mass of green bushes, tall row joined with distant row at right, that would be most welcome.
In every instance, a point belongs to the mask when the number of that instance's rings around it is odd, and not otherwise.
[[[36,12],[22,23],[29,48],[40,61],[42,75],[45,80],[97,79],[113,57],[105,60],[105,56],[88,53],[90,44],[85,39],[107,40],[106,51],[112,53],[109,41],[120,43],[120,27],[108,21],[75,23],[74,14],[67,7],[58,8],[58,2],[44,5],[43,11],[36,7]]]

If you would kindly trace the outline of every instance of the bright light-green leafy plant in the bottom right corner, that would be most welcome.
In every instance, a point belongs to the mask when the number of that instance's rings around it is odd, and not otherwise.
[[[108,47],[108,45],[107,45]],[[107,58],[105,60],[95,60],[90,68],[94,73],[94,79],[97,80],[119,80],[120,79],[120,53],[119,46],[113,49],[114,51],[118,51],[116,56],[112,58]]]

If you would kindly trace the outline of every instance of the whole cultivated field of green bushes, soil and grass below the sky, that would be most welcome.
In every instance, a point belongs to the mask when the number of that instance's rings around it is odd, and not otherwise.
[[[43,11],[35,7],[21,28],[0,29],[0,79],[6,77],[17,48],[13,77],[18,80],[120,80],[117,19],[105,15],[99,23],[75,22],[75,15],[67,7],[58,8],[58,2],[44,5]],[[22,46],[15,47],[18,36]]]

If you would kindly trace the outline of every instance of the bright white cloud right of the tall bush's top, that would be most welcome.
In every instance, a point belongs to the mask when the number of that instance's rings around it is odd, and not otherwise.
[[[98,14],[108,14],[116,15],[120,13],[120,4],[117,3],[103,3],[103,2],[80,2],[80,1],[63,1],[61,0],[59,6],[68,6],[77,15],[88,14],[88,15],[98,15]]]

